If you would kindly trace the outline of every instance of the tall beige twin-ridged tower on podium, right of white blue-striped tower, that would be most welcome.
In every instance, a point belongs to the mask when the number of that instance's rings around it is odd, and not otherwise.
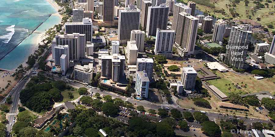
[[[199,19],[181,12],[178,15],[175,47],[182,57],[194,54]]]

